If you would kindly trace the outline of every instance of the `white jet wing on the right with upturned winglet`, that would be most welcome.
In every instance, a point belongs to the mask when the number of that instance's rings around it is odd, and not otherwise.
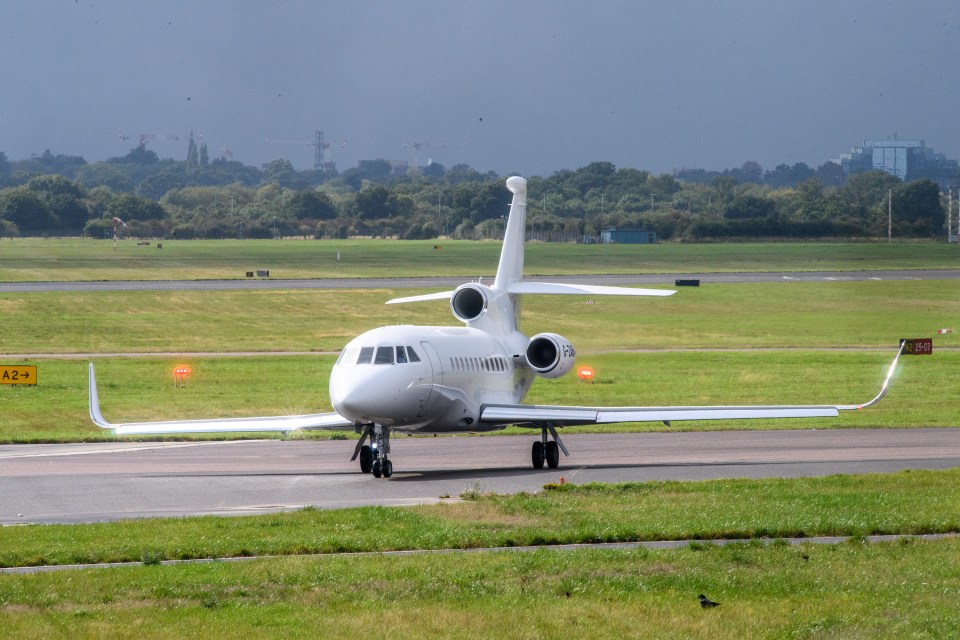
[[[747,405],[717,407],[564,407],[525,404],[488,404],[480,409],[480,421],[486,424],[541,428],[543,425],[573,426],[614,422],[666,422],[680,420],[747,420],[757,418],[835,418],[841,411],[856,411],[880,402],[887,394],[897,362],[903,354],[900,345],[880,393],[863,404],[836,405]]]

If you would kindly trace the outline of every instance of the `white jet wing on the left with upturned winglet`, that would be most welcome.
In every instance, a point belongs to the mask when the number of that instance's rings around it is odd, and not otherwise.
[[[90,363],[90,419],[98,427],[112,429],[117,435],[169,433],[245,433],[264,431],[352,430],[353,422],[338,413],[302,416],[266,416],[259,418],[223,418],[215,420],[171,420],[165,422],[107,422],[100,413],[97,380]]]

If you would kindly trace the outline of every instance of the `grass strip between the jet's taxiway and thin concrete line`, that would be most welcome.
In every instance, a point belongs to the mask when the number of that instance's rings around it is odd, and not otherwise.
[[[411,508],[0,529],[0,566],[960,531],[960,469],[565,485]]]

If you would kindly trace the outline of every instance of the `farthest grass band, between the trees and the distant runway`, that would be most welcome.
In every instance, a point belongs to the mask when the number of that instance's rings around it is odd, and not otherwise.
[[[0,240],[0,281],[193,280],[478,276],[496,270],[499,242],[456,240]],[[440,249],[434,247],[440,246]],[[939,242],[572,245],[531,243],[528,274],[953,269]]]

